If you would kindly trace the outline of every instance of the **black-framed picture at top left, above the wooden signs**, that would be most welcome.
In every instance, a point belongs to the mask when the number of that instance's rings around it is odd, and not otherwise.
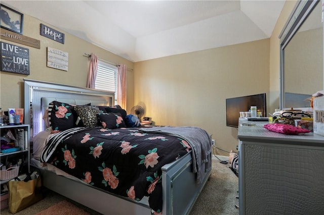
[[[0,25],[2,28],[22,34],[24,15],[1,4]]]

